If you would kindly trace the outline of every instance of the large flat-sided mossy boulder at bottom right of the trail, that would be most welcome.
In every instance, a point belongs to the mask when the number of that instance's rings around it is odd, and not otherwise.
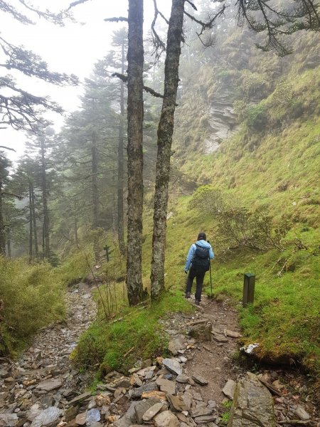
[[[275,427],[273,400],[270,391],[257,376],[247,372],[235,387],[228,427]]]

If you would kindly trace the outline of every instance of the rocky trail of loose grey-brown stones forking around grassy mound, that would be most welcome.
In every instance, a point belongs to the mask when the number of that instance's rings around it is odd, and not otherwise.
[[[237,313],[227,302],[197,308],[161,320],[171,357],[110,372],[90,393],[90,373],[69,359],[95,317],[91,290],[80,284],[68,292],[65,322],[42,330],[18,361],[0,361],[0,426],[216,427],[226,425],[232,401],[228,426],[319,425],[304,376],[238,366]]]

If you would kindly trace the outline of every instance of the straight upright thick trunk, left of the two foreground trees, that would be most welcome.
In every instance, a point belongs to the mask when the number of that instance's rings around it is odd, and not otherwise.
[[[144,297],[142,288],[143,154],[143,0],[129,0],[128,14],[128,233],[127,293],[129,305]]]

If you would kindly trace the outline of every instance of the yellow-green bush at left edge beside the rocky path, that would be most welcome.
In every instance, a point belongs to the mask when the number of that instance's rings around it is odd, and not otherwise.
[[[48,263],[0,257],[0,354],[14,353],[43,326],[64,316],[63,285]]]

